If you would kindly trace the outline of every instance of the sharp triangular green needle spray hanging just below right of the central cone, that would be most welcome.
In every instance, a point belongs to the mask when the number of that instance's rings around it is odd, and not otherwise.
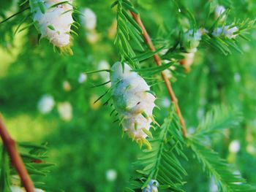
[[[181,127],[174,111],[165,119],[150,143],[152,150],[145,150],[135,162],[138,176],[132,178],[132,187],[146,188],[150,180],[157,180],[159,188],[182,191],[182,178],[187,173],[181,166],[178,156],[186,158],[186,155],[183,152],[184,139],[181,136]],[[143,183],[142,187],[140,182]]]

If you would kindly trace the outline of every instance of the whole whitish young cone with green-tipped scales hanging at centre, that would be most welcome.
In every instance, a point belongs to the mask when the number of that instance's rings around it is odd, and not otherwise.
[[[149,131],[154,120],[152,112],[156,100],[150,87],[128,64],[124,67],[120,62],[114,64],[110,72],[113,104],[121,115],[121,124],[129,137],[140,145],[151,148],[146,137],[151,137]]]

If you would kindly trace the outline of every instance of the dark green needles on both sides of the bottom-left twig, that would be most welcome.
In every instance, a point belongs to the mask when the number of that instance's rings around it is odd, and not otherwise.
[[[19,143],[18,148],[26,169],[34,182],[35,188],[40,188],[46,191],[58,191],[57,188],[50,188],[49,185],[42,183],[42,177],[45,177],[49,173],[48,167],[54,165],[45,162],[45,158],[47,158],[46,144],[35,145],[33,143]],[[20,181],[17,181],[18,178],[16,177],[16,170],[10,165],[9,154],[4,146],[1,146],[0,172],[1,191],[10,192],[11,185],[17,185],[17,183],[20,183]]]

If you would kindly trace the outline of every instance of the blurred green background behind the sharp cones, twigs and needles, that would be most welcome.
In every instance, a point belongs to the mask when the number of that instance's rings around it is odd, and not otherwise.
[[[21,9],[18,1],[0,2],[1,14],[12,15]],[[121,138],[121,127],[114,123],[115,115],[110,116],[112,107],[103,106],[108,98],[94,104],[108,87],[91,87],[108,81],[108,76],[91,74],[83,83],[78,82],[80,73],[106,66],[102,61],[110,65],[118,61],[118,51],[113,45],[115,10],[110,9],[111,3],[75,1],[80,9],[89,7],[97,15],[94,33],[98,39],[91,42],[88,35],[86,37],[89,31],[80,26],[79,36],[73,36],[72,56],[54,52],[46,39],[37,45],[34,27],[13,37],[21,16],[0,24],[0,111],[17,141],[48,142],[48,161],[56,166],[42,181],[53,188],[75,192],[123,191],[133,171],[132,162],[140,152],[138,145],[127,136]],[[206,1],[185,3],[200,26],[204,22]],[[254,1],[214,3],[230,7],[230,20],[255,17]],[[163,39],[173,42],[172,31],[180,22],[174,14],[173,1],[135,1],[135,6],[154,42]],[[195,130],[205,113],[215,105],[236,107],[242,112],[243,123],[225,132],[225,137],[216,138],[214,148],[234,164],[249,183],[256,185],[256,31],[247,37],[250,42],[239,39],[242,54],[232,50],[232,54],[225,56],[200,45],[191,72],[176,77],[178,80],[173,87],[189,131]],[[153,61],[148,63],[153,64]],[[155,110],[155,115],[162,122],[169,107],[167,93],[162,84],[154,91],[161,108]],[[53,96],[55,105],[53,110],[42,114],[38,103],[45,94]],[[71,120],[63,120],[59,115],[58,106],[63,102],[72,106]],[[236,153],[231,145],[240,146]],[[183,165],[188,171],[185,191],[214,191],[211,180],[192,156]]]

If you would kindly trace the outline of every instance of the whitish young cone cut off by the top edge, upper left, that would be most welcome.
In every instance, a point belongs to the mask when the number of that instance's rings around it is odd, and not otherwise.
[[[30,7],[41,37],[61,49],[69,48],[70,27],[74,23],[72,0],[30,0]]]

